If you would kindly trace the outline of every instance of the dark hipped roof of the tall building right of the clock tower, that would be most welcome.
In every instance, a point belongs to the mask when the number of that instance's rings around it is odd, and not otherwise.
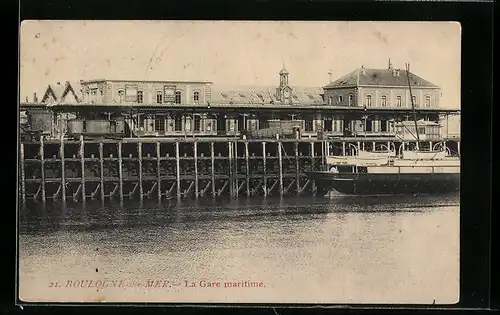
[[[399,72],[399,75],[397,75]],[[422,79],[410,72],[410,83],[412,86],[438,88],[437,85]],[[364,69],[358,68],[336,81],[325,86],[328,88],[339,88],[346,86],[408,86],[406,70],[389,69]]]

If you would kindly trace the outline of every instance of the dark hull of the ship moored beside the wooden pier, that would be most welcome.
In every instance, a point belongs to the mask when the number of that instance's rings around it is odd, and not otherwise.
[[[349,174],[309,172],[316,182],[318,194],[330,190],[342,194],[442,194],[460,190],[459,173],[436,174]]]

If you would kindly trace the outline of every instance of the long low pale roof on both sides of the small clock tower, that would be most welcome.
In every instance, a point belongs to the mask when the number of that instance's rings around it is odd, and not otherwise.
[[[276,86],[212,86],[211,103],[269,104],[278,102]],[[323,89],[318,87],[292,87],[292,102],[300,104],[322,104]]]

